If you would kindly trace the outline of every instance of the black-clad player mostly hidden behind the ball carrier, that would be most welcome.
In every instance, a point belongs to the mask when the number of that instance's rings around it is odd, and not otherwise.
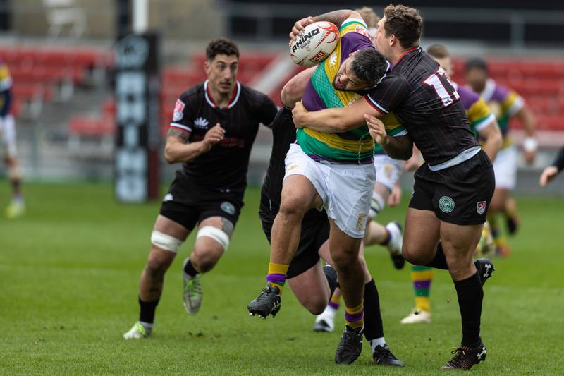
[[[284,104],[284,103],[283,103]],[[272,123],[272,154],[261,192],[259,217],[266,238],[271,240],[272,224],[281,202],[284,178],[284,157],[290,144],[295,142],[292,112],[284,107]],[[312,209],[302,220],[300,243],[286,274],[286,282],[298,301],[317,315],[326,307],[337,285],[337,274],[331,267],[329,255],[329,221],[325,211]],[[326,260],[321,267],[319,257]],[[370,275],[360,250],[360,262],[364,269],[364,337],[372,348],[374,363],[403,366],[391,353],[384,339],[384,327],[380,313],[378,289]]]

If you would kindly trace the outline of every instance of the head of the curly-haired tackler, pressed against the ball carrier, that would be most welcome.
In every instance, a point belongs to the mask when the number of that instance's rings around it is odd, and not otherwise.
[[[417,9],[390,4],[384,9],[384,18],[378,22],[376,48],[386,59],[391,59],[394,49],[417,47],[422,30],[423,20]]]

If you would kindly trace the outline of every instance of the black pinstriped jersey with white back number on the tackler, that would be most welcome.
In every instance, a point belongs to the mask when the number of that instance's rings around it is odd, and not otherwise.
[[[458,92],[421,47],[407,51],[366,99],[376,110],[398,116],[430,165],[478,145]]]

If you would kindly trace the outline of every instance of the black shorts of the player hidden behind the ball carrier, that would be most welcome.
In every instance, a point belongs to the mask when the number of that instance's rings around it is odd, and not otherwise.
[[[266,195],[261,195],[259,217],[262,222],[262,231],[270,243],[270,234],[278,207],[271,205]],[[302,234],[286,277],[293,278],[313,267],[319,262],[319,248],[329,239],[329,219],[325,211],[312,209],[302,221]]]

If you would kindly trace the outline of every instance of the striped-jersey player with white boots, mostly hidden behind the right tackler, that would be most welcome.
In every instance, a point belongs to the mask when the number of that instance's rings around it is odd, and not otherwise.
[[[448,77],[453,77],[454,69],[450,61],[450,52],[442,44],[433,44],[427,48],[429,54],[444,69]],[[491,161],[494,161],[496,154],[501,147],[501,131],[499,130],[496,117],[491,113],[486,102],[475,92],[467,87],[459,86],[452,82],[453,87],[460,95],[460,101],[466,111],[470,129],[476,137],[484,140],[483,149]],[[479,243],[482,247],[477,249],[477,254],[488,254],[491,245],[491,233],[489,226],[484,226],[482,239]],[[493,267],[493,265],[492,265]],[[415,324],[418,322],[431,322],[431,306],[429,304],[429,291],[433,280],[433,269],[427,266],[412,265],[411,281],[415,293],[415,308],[410,315],[401,320],[402,324]]]

